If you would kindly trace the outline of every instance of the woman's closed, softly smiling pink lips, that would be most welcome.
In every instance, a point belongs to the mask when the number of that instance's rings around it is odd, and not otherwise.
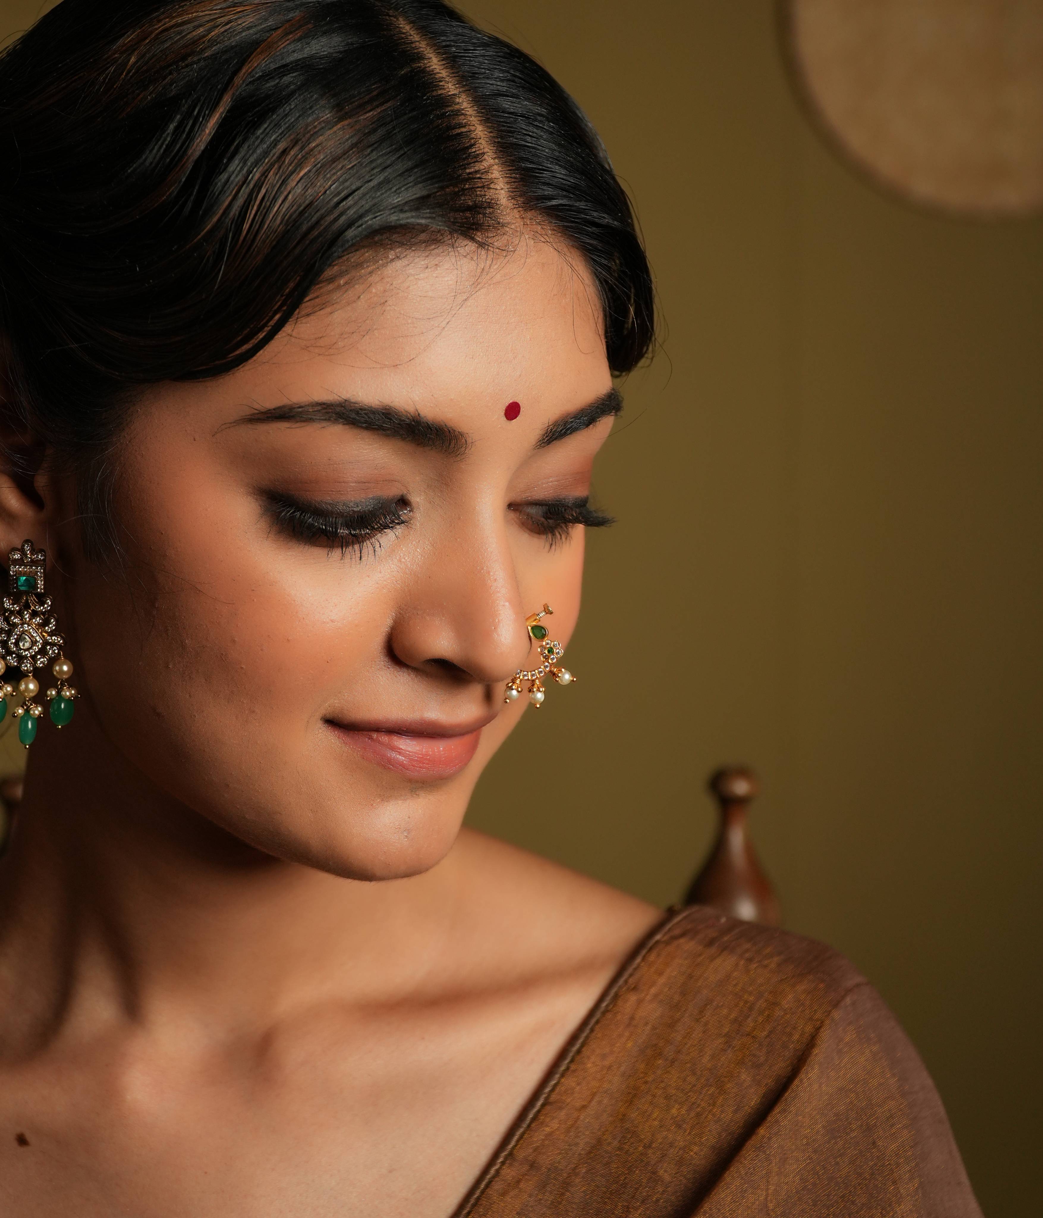
[[[492,717],[461,725],[326,722],[365,760],[409,778],[437,781],[452,778],[467,766]]]

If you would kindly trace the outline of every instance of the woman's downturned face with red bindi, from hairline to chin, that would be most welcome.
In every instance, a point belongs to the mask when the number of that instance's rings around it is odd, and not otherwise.
[[[572,635],[611,389],[589,279],[526,240],[388,257],[237,371],[150,390],[127,579],[63,548],[78,722],[268,854],[428,868],[528,704],[526,615]]]

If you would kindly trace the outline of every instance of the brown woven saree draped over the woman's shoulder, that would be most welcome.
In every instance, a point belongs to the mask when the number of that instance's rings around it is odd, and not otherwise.
[[[941,1101],[836,952],[694,907],[645,940],[454,1218],[980,1218]]]

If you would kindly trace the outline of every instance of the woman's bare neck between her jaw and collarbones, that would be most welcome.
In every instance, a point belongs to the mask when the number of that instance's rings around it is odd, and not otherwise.
[[[378,883],[274,859],[151,788],[84,719],[74,745],[33,745],[0,861],[0,990],[29,995],[5,1046],[84,1021],[225,1034],[391,1001],[433,967],[456,850]]]

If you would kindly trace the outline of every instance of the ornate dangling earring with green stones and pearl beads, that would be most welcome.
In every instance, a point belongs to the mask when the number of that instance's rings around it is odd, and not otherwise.
[[[18,720],[18,739],[28,748],[37,738],[37,721],[44,708],[34,702],[40,683],[33,676],[34,669],[43,669],[50,660],[51,672],[57,677],[56,688],[47,689],[51,704],[51,722],[65,727],[73,717],[75,689],[68,683],[73,666],[62,654],[65,638],[58,633],[58,622],[51,613],[51,598],[44,596],[47,555],[35,549],[32,541],[22,542],[21,549],[7,555],[7,596],[0,614],[0,676],[7,669],[21,669],[26,675],[15,687],[10,681],[0,686],[0,720],[7,714],[7,700],[19,693],[24,702],[11,715]],[[57,657],[57,659],[55,659]]]

